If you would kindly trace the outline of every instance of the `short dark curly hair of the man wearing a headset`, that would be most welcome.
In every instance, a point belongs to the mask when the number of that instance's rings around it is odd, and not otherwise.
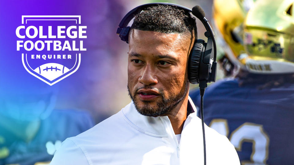
[[[162,33],[184,33],[197,39],[195,18],[187,10],[171,5],[150,6],[134,17],[131,29]]]

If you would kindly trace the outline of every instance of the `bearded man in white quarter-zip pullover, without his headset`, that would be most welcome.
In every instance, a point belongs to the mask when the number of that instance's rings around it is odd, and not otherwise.
[[[154,5],[129,34],[132,102],[92,129],[63,142],[57,164],[203,164],[201,120],[188,96],[187,63],[197,37],[187,11]],[[228,139],[205,126],[207,164],[239,164]]]

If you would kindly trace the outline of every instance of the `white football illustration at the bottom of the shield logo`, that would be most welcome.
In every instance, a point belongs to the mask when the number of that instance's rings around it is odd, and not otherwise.
[[[47,63],[34,69],[35,72],[39,73],[43,77],[49,79],[50,81],[58,78],[59,76],[65,74],[70,69],[66,68],[62,64],[57,63]]]

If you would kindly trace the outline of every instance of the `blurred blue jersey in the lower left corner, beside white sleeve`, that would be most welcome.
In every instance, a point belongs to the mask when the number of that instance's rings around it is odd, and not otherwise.
[[[62,141],[93,126],[92,117],[87,112],[53,110],[49,117],[41,120],[40,128],[31,141],[11,142],[13,135],[0,131],[0,165],[49,164]]]

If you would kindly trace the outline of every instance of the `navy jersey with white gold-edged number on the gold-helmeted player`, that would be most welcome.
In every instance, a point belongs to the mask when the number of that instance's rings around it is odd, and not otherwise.
[[[239,86],[238,79],[209,86],[203,98],[204,121],[229,138],[242,164],[293,164],[294,84],[257,86]],[[199,90],[190,97],[200,107]]]

